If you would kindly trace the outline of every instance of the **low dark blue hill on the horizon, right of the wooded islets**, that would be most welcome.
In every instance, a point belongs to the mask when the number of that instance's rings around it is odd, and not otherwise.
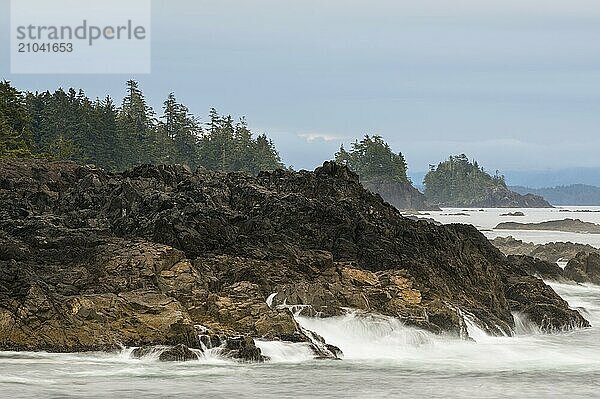
[[[571,184],[553,188],[510,186],[519,194],[541,195],[552,205],[600,205],[600,187],[588,184]]]

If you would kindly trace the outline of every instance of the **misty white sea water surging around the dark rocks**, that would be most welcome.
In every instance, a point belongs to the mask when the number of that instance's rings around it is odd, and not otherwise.
[[[583,220],[600,222],[597,213],[521,211],[531,220],[500,217],[505,210],[471,210],[472,216],[447,216],[453,212],[444,210],[429,217],[444,223],[473,223],[487,230],[508,220],[537,222],[583,216]],[[562,240],[560,237],[560,233],[537,232],[536,241]],[[161,363],[153,356],[131,359],[130,349],[112,354],[0,352],[0,393],[11,398],[598,397],[600,286],[550,284],[593,327],[541,334],[515,315],[515,336],[490,337],[468,323],[474,341],[467,341],[355,312],[327,319],[297,317],[304,328],[339,346],[344,359],[314,360],[305,344],[264,341],[257,345],[272,359],[264,364],[236,363],[220,358],[215,351],[199,361],[176,363]]]

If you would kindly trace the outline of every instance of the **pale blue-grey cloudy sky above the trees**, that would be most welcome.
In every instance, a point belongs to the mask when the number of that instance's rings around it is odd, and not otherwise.
[[[508,175],[600,168],[597,0],[152,0],[140,75],[11,74],[0,4],[0,79],[121,99],[134,78],[157,110],[173,91],[201,119],[246,116],[295,168],[364,134],[417,174],[458,153]]]

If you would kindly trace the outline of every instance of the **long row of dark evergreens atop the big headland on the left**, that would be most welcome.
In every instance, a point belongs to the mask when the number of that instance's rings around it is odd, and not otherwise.
[[[258,173],[283,167],[273,142],[245,118],[210,110],[202,124],[173,93],[159,116],[138,82],[120,105],[83,90],[21,92],[0,82],[0,157],[44,157],[123,170],[142,163]]]

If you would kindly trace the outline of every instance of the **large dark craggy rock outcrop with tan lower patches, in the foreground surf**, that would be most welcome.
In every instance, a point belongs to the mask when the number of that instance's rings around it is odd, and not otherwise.
[[[548,330],[588,325],[474,227],[404,218],[331,162],[251,177],[2,160],[0,204],[0,349],[209,342],[260,361],[260,337],[334,356],[293,305],[455,334],[466,313],[491,333],[513,311]]]

